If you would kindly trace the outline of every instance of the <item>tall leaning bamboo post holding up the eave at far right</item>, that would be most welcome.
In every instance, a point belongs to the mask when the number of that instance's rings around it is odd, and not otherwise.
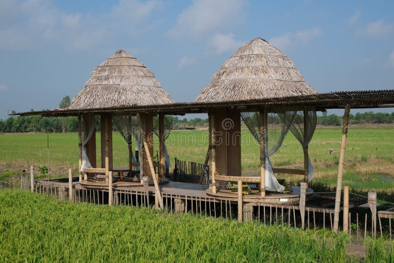
[[[350,115],[350,105],[347,104],[345,107],[345,114],[343,116],[341,151],[339,154],[338,176],[337,176],[337,182],[336,182],[334,225],[333,225],[333,231],[335,233],[338,233],[338,227],[339,227],[339,212],[340,212],[340,205],[341,205],[343,164],[345,161],[346,139],[347,139],[347,134],[348,134],[348,126],[349,126],[349,115]]]

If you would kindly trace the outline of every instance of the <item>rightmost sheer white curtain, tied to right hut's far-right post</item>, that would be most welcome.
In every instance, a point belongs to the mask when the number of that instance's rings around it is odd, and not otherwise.
[[[306,131],[304,131],[304,111],[297,111],[290,130],[297,138],[303,148],[307,148],[309,142],[312,139],[313,133],[316,129],[316,109],[315,107],[307,107],[306,113]],[[311,160],[308,155],[308,177],[309,182],[312,181],[313,172],[315,167],[311,164]]]

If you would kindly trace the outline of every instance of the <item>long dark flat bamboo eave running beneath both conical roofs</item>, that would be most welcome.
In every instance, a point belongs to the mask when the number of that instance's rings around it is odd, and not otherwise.
[[[136,114],[141,112],[166,114],[206,113],[217,108],[237,108],[250,111],[261,107],[300,107],[315,106],[319,109],[342,109],[349,104],[351,108],[394,107],[394,90],[344,91],[312,95],[291,96],[271,99],[252,99],[223,102],[180,102],[156,105],[133,105],[89,109],[54,109],[10,114],[15,116],[78,116],[81,114]]]

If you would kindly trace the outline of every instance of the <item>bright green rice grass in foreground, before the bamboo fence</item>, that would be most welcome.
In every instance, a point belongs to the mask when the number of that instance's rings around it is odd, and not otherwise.
[[[346,233],[0,191],[0,262],[344,262]],[[384,243],[367,243],[383,259]],[[393,249],[393,248],[392,248]],[[393,254],[393,252],[391,252]]]

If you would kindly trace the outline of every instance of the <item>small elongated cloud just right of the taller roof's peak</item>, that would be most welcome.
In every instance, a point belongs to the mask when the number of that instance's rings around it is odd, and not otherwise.
[[[319,38],[322,31],[319,28],[300,30],[296,33],[285,33],[280,36],[272,37],[269,42],[281,50],[289,50],[294,46],[308,44]]]

